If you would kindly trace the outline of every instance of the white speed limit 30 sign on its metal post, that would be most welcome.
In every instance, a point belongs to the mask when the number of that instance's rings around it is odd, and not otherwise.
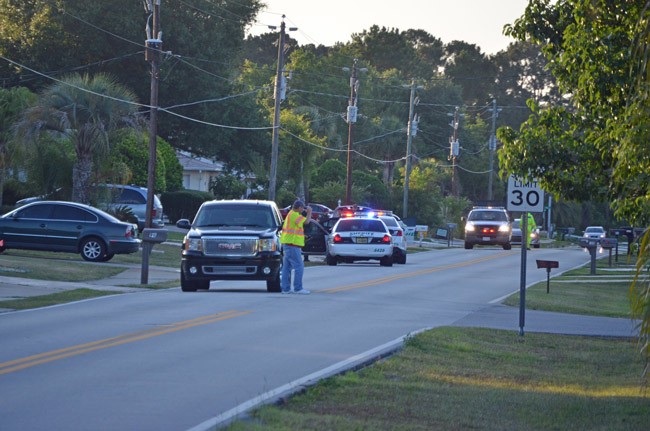
[[[528,243],[528,212],[544,210],[544,191],[537,180],[508,177],[508,211],[521,212],[521,271],[519,277],[519,335],[524,335],[526,321],[526,244]]]

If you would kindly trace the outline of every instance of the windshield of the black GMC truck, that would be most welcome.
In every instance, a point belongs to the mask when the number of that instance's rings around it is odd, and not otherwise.
[[[268,208],[241,204],[205,206],[196,215],[194,225],[275,228]]]

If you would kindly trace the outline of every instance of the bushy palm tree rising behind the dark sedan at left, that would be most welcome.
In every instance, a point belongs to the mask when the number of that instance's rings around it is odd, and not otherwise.
[[[93,160],[110,148],[109,132],[135,127],[137,105],[132,91],[106,74],[71,75],[40,94],[16,125],[17,136],[34,143],[43,132],[69,139],[75,148],[72,200],[88,203]]]

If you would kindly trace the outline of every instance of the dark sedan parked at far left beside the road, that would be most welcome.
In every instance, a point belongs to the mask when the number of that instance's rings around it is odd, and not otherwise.
[[[140,240],[133,224],[97,208],[38,201],[0,217],[0,252],[7,249],[79,253],[84,260],[106,262],[137,252]]]

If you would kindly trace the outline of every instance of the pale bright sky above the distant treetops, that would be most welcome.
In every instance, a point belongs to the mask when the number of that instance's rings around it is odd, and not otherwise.
[[[250,33],[267,33],[285,23],[299,44],[332,46],[372,25],[400,31],[422,29],[449,43],[473,43],[485,54],[508,47],[503,26],[523,15],[527,0],[262,0],[267,5]]]

